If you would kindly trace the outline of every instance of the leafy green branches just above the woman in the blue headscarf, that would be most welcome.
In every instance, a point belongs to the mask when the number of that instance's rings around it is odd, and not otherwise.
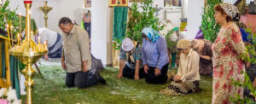
[[[139,9],[142,9],[142,11]],[[137,2],[134,2],[130,8],[126,37],[142,43],[141,32],[144,27],[152,27],[158,32],[162,30],[164,26],[160,26],[159,19],[154,15],[155,13],[153,0],[143,0],[140,6]]]

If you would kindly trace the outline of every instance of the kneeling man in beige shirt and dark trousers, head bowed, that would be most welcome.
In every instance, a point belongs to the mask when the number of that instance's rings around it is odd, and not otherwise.
[[[82,89],[97,83],[106,84],[95,67],[91,67],[88,33],[83,28],[75,26],[67,17],[61,18],[59,26],[63,32],[61,64],[67,71],[67,87],[76,86]]]

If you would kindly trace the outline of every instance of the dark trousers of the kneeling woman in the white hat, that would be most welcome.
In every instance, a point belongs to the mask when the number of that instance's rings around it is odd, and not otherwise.
[[[135,69],[131,69],[129,66],[125,65],[123,68],[123,77],[125,78],[134,78]],[[139,78],[145,78],[145,72],[143,68],[139,69]]]

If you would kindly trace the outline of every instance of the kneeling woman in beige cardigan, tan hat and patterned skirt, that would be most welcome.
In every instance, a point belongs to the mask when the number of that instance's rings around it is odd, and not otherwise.
[[[182,51],[177,75],[174,76],[174,81],[166,90],[161,90],[160,93],[166,95],[187,95],[191,92],[200,91],[199,55],[190,48],[189,40],[182,39],[178,41],[177,49]]]

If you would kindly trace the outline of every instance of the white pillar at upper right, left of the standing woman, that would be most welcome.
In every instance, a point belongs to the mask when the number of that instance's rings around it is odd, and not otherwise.
[[[201,26],[201,14],[203,13],[205,0],[189,0],[188,1],[188,32],[184,36],[186,39],[194,39],[196,32]]]

